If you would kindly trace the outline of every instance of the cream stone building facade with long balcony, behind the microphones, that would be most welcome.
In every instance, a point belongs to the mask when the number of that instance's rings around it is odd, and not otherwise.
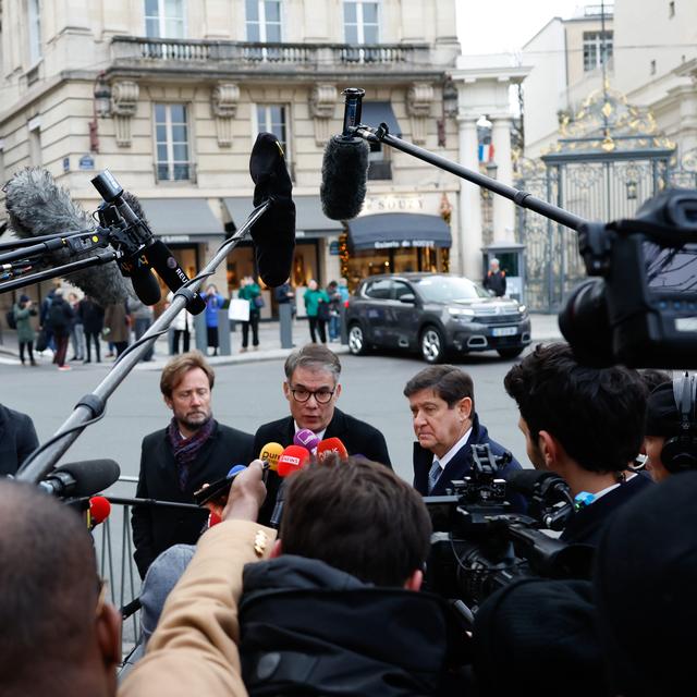
[[[460,50],[454,0],[3,0],[1,10],[3,181],[40,166],[94,209],[90,179],[109,169],[193,274],[252,211],[249,152],[269,131],[294,183],[298,289],[457,259],[460,185],[411,156],[371,151],[362,218],[374,218],[372,237],[354,240],[319,201],[345,87],[366,90],[364,123],[457,157],[442,99]],[[443,241],[430,228],[442,233],[448,210]],[[423,239],[401,234],[400,216],[412,215],[429,217]],[[212,282],[230,293],[253,259],[250,246],[235,249]]]

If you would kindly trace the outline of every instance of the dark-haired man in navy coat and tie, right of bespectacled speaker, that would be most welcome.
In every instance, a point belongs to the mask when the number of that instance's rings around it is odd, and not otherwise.
[[[415,375],[404,388],[414,419],[414,488],[424,496],[443,496],[453,480],[472,472],[472,445],[488,444],[493,455],[505,449],[489,438],[475,412],[474,384],[469,375],[455,366],[430,366]],[[503,466],[505,478],[521,469],[512,458]],[[519,497],[509,496],[516,510]]]

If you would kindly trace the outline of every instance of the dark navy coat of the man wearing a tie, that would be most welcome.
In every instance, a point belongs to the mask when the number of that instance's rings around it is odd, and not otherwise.
[[[467,442],[455,453],[454,457],[445,465],[440,478],[436,482],[433,490],[428,491],[428,473],[433,464],[433,453],[430,450],[421,448],[416,441],[414,443],[414,488],[423,496],[442,497],[445,489],[451,486],[455,479],[462,479],[469,474],[472,469],[472,445],[480,445],[488,443],[494,455],[501,455],[505,452],[505,448],[489,438],[489,431],[486,426],[479,423],[479,416],[475,413],[472,419],[472,433]],[[501,472],[501,477],[505,479],[509,473],[522,469],[521,463],[514,457]],[[509,492],[506,499],[511,501],[516,512],[525,512],[525,500],[521,494]]]

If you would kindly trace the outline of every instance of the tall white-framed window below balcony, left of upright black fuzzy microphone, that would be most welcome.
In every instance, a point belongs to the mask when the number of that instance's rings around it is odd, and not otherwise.
[[[157,180],[192,180],[185,105],[155,105]]]

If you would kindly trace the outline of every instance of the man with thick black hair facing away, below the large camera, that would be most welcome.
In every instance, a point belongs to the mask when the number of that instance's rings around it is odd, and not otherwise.
[[[646,486],[626,478],[639,452],[646,389],[635,370],[582,366],[568,345],[538,345],[505,376],[521,412],[519,428],[536,469],[566,480],[577,510],[566,542],[596,545],[606,521]]]

